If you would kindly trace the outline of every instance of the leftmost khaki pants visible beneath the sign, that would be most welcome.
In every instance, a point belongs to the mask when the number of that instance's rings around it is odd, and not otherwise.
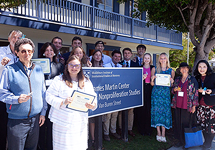
[[[104,135],[109,135],[109,128],[111,133],[116,133],[117,116],[118,116],[118,112],[113,112],[102,116],[102,119],[104,122],[103,124]]]

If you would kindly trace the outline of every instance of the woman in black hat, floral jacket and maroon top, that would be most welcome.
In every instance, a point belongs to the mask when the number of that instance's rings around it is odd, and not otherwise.
[[[172,93],[174,94],[172,108],[175,109],[174,130],[175,137],[179,141],[175,145],[176,147],[185,144],[184,128],[189,128],[190,113],[194,113],[196,106],[198,106],[198,83],[195,77],[189,75],[190,67],[183,62],[179,66],[179,71],[182,76],[175,79],[172,88]]]

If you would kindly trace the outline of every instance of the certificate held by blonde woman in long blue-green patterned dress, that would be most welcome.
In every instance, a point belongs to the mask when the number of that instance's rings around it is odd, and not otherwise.
[[[156,74],[155,85],[158,86],[170,86],[170,78],[169,74]]]

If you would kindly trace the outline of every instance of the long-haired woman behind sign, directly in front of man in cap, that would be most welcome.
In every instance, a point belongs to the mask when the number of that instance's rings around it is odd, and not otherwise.
[[[95,50],[92,55],[92,67],[102,67],[102,52],[100,50]],[[89,119],[90,122],[90,134],[92,138],[92,146],[95,145],[95,117]]]

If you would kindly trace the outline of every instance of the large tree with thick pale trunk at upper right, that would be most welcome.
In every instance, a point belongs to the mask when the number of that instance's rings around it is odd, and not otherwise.
[[[215,45],[215,0],[134,0],[134,5],[147,12],[149,24],[190,33],[196,47],[194,67],[199,60],[208,60]]]

